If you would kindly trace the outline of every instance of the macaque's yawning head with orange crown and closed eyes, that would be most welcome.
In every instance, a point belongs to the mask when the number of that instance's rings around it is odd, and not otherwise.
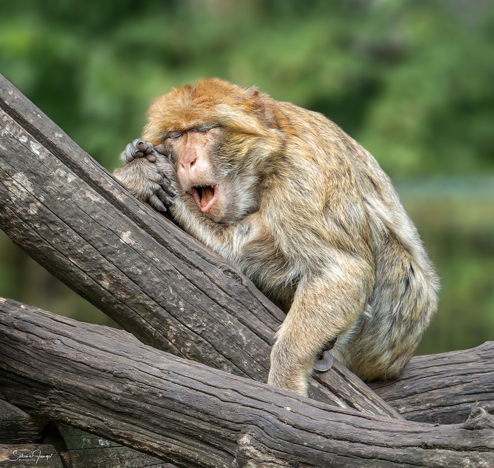
[[[173,89],[148,111],[143,138],[163,143],[181,190],[217,223],[255,209],[259,166],[272,148],[259,93],[221,80]]]

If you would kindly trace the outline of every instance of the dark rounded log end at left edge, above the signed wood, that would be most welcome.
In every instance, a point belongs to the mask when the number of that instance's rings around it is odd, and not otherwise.
[[[0,444],[27,444],[41,437],[44,422],[0,399]]]

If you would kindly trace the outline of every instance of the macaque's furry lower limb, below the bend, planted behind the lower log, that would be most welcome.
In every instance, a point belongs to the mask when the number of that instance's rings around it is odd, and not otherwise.
[[[271,351],[268,384],[307,395],[316,358],[364,311],[373,284],[372,268],[364,262],[346,263],[345,271],[339,268],[336,274],[301,281]]]

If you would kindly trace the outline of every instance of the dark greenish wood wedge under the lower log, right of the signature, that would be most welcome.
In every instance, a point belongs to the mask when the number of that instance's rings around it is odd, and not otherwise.
[[[98,435],[57,425],[67,446],[61,453],[70,468],[174,468],[174,465]]]

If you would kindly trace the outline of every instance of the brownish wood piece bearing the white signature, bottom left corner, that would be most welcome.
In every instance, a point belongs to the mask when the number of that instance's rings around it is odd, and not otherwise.
[[[0,444],[1,468],[64,468],[53,445]]]

